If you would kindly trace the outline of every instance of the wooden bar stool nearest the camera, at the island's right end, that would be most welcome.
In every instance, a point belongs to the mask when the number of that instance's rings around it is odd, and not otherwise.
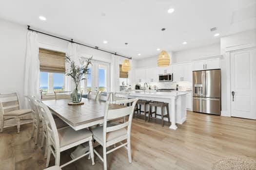
[[[155,107],[155,111],[152,112],[152,107]],[[161,114],[157,114],[158,107],[161,108]],[[164,107],[166,107],[167,115],[164,115]],[[168,118],[168,123],[170,123],[170,115],[169,115],[169,103],[167,102],[156,102],[156,101],[150,101],[149,102],[149,115],[148,115],[148,122],[150,121],[150,117],[152,117],[152,114],[155,114],[155,118],[157,119],[157,116],[160,116],[162,119],[162,126],[164,126],[163,118]]]

